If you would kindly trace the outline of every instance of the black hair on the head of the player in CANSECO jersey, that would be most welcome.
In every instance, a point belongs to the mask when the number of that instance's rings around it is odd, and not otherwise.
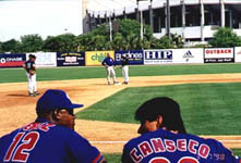
[[[158,97],[144,102],[135,112],[135,120],[153,122],[162,116],[162,126],[167,130],[186,134],[178,102],[167,97]]]

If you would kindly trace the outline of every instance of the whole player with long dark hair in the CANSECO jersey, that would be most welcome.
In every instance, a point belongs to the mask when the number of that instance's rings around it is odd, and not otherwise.
[[[179,104],[166,97],[144,102],[135,112],[140,137],[123,149],[122,163],[240,163],[215,139],[186,134]]]

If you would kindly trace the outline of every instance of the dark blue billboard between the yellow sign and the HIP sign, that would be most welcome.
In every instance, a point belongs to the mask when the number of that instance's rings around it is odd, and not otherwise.
[[[121,57],[129,57],[129,64],[143,64],[143,50],[115,51],[115,60],[117,64],[121,64]]]

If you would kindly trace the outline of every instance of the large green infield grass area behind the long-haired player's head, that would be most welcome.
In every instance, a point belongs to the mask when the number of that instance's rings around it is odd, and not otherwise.
[[[185,84],[126,88],[88,109],[77,118],[121,123],[134,121],[134,112],[147,99],[171,97],[180,103],[185,127],[195,135],[241,135],[241,84]]]

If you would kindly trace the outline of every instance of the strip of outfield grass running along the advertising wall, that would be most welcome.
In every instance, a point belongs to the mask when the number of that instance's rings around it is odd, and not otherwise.
[[[121,70],[116,68],[117,76],[122,77]],[[200,65],[155,65],[130,66],[130,76],[159,76],[186,74],[240,73],[241,64],[200,64]],[[99,67],[58,67],[37,68],[37,80],[65,80],[83,78],[105,78],[106,71]],[[0,83],[27,82],[23,68],[1,68]]]

